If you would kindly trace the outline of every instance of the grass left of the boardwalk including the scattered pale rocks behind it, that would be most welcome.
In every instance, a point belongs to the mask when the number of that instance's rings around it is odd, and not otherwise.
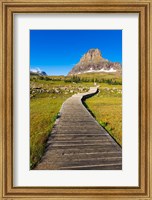
[[[39,77],[30,82],[30,168],[44,154],[46,141],[51,133],[57,114],[63,102],[82,90],[88,91],[91,83],[65,83],[61,81],[46,81]]]

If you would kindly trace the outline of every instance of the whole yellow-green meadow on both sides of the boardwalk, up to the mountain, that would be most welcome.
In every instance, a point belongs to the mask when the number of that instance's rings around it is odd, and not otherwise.
[[[119,74],[90,73],[78,76],[31,76],[30,78],[30,168],[41,159],[62,103],[75,93],[99,85],[99,93],[87,99],[86,107],[121,145],[122,81]]]

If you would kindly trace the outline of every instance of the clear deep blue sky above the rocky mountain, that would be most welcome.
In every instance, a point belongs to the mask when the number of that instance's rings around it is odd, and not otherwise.
[[[30,69],[67,75],[89,49],[122,63],[121,30],[30,30]]]

